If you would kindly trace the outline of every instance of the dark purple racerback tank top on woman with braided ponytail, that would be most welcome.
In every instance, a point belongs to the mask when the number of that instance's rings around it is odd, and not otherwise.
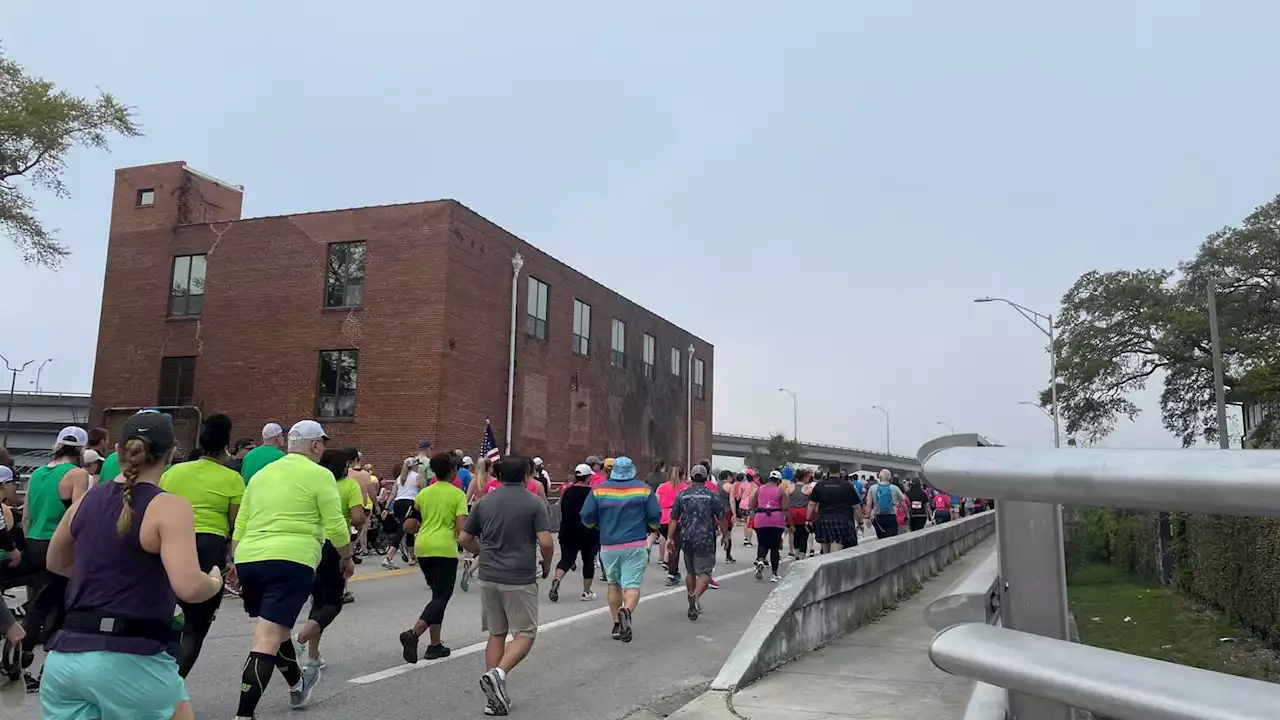
[[[140,483],[133,488],[129,505],[133,525],[124,537],[115,532],[120,515],[122,483],[93,487],[81,501],[72,520],[76,543],[76,570],[67,588],[67,610],[95,610],[116,618],[136,618],[173,623],[178,598],[173,594],[169,575],[160,556],[142,550],[138,534],[142,516],[159,486]],[[49,642],[58,652],[109,651],[129,655],[155,655],[164,643],[148,638],[125,638],[60,630]]]

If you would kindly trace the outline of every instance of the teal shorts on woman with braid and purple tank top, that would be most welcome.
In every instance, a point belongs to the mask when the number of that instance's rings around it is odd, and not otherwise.
[[[50,652],[40,679],[46,720],[169,720],[186,700],[168,652]]]

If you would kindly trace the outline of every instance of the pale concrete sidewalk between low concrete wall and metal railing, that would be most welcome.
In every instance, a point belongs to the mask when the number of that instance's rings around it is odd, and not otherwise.
[[[973,682],[929,661],[933,630],[924,607],[995,548],[988,538],[879,620],[858,628],[740,689],[728,703],[750,720],[945,720],[961,717]],[[728,717],[726,697],[708,693],[671,720]]]

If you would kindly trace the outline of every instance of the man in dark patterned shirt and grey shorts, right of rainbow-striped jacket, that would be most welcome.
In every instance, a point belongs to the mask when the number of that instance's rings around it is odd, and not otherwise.
[[[719,493],[709,483],[698,482],[708,475],[705,465],[694,466],[694,482],[680,491],[667,523],[668,553],[685,553],[685,591],[687,616],[696,621],[703,611],[701,597],[712,583],[716,569],[716,533],[728,534],[732,515]]]

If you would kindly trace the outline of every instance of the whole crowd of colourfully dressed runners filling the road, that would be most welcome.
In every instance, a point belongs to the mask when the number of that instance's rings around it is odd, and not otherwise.
[[[403,660],[451,655],[445,610],[456,587],[474,583],[488,634],[484,712],[508,715],[507,675],[532,648],[539,579],[553,573],[550,602],[573,571],[579,598],[593,602],[599,571],[611,635],[628,643],[654,550],[667,584],[685,585],[696,621],[704,593],[719,587],[718,555],[736,562],[735,527],[742,547],[755,547],[755,578],[778,582],[783,550],[791,559],[833,552],[872,532],[890,537],[989,506],[838,465],[716,474],[709,460],[687,470],[658,460],[640,477],[630,457],[591,456],[554,483],[539,457],[489,450],[476,462],[457,450],[433,454],[428,441],[394,479],[379,480],[358,448],[329,445],[315,420],[288,430],[268,423],[260,441],[233,443],[230,420],[218,414],[179,462],[172,418],[143,410],[115,443],[102,429],[63,429],[22,498],[0,465],[0,588],[27,585],[20,621],[0,602],[0,670],[40,693],[47,719],[192,717],[184,678],[234,594],[256,619],[237,717],[255,716],[276,671],[301,708],[326,666],[324,633],[355,600],[347,580],[356,564],[380,556],[396,569],[399,555],[429,588],[399,634]]]

